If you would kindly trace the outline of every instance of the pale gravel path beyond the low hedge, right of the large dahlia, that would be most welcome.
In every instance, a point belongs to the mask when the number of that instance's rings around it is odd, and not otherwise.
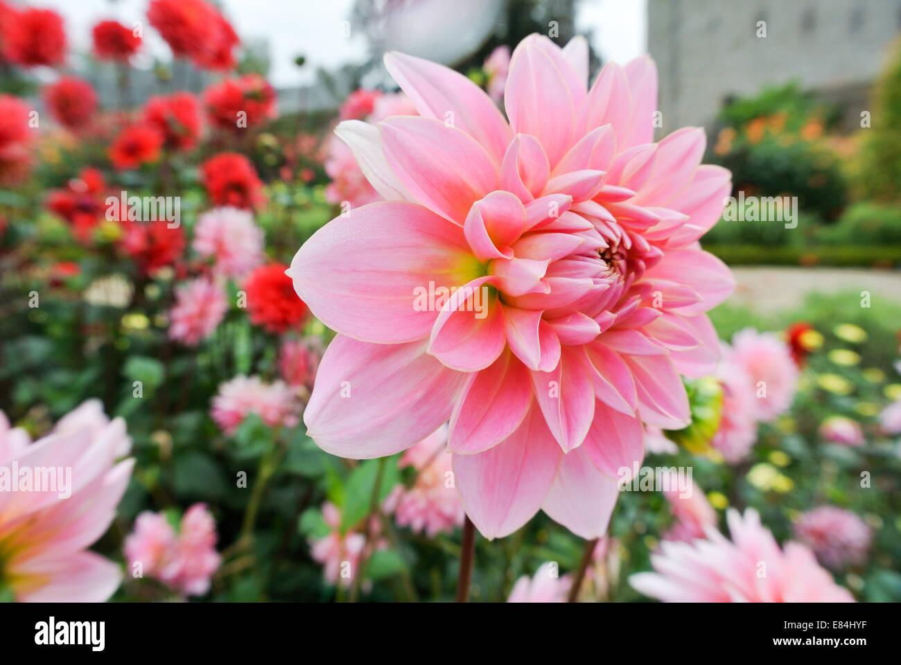
[[[867,290],[901,303],[901,272],[857,268],[733,268],[735,305],[771,313],[801,304],[811,291],[839,293]]]

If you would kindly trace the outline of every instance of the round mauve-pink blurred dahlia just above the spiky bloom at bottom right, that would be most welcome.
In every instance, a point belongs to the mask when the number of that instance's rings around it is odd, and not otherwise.
[[[869,526],[842,508],[820,506],[802,513],[795,523],[795,533],[828,568],[841,569],[867,559]]]

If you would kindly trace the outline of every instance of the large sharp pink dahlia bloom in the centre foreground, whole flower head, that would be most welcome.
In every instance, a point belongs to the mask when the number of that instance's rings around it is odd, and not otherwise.
[[[467,514],[488,538],[539,509],[601,535],[642,421],[689,421],[679,377],[714,369],[705,311],[733,288],[697,239],[729,172],[705,136],[652,142],[651,59],[607,65],[587,44],[516,48],[506,118],[467,77],[386,56],[419,116],[341,123],[385,201],[326,224],[287,274],[340,333],[305,412],[325,451],[375,458],[450,421]],[[509,119],[509,122],[507,120]]]

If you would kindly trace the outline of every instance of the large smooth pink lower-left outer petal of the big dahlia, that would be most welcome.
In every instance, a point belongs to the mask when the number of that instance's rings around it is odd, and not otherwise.
[[[338,335],[316,373],[307,434],[339,457],[393,455],[451,417],[465,379],[425,353],[424,341],[369,344]]]

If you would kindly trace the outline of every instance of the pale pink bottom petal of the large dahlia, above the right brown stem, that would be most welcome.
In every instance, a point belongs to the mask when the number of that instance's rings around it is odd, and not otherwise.
[[[554,522],[591,540],[606,533],[617,498],[616,480],[597,470],[582,446],[563,455],[542,510]]]

